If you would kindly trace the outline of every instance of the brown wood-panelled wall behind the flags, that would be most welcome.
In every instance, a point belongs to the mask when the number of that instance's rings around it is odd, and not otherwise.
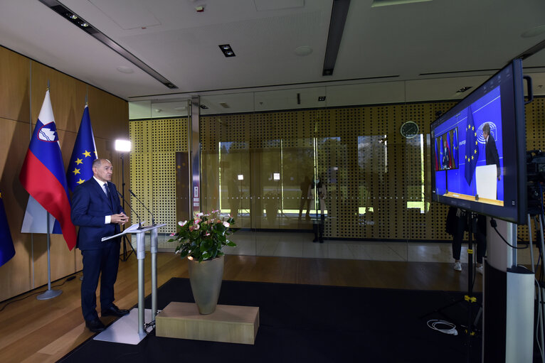
[[[121,183],[121,161],[113,151],[113,141],[121,137],[129,139],[127,102],[0,47],[0,114],[4,117],[0,118],[0,190],[16,249],[14,258],[0,266],[0,300],[42,286],[48,281],[46,234],[19,232],[28,193],[18,181],[48,80],[65,166],[73,150],[85,107],[85,95],[88,94],[97,152],[100,157],[110,158],[115,168],[112,180],[118,186]],[[125,181],[128,188],[128,158],[126,161]],[[80,251],[69,251],[62,235],[52,234],[52,281],[80,269]]]

